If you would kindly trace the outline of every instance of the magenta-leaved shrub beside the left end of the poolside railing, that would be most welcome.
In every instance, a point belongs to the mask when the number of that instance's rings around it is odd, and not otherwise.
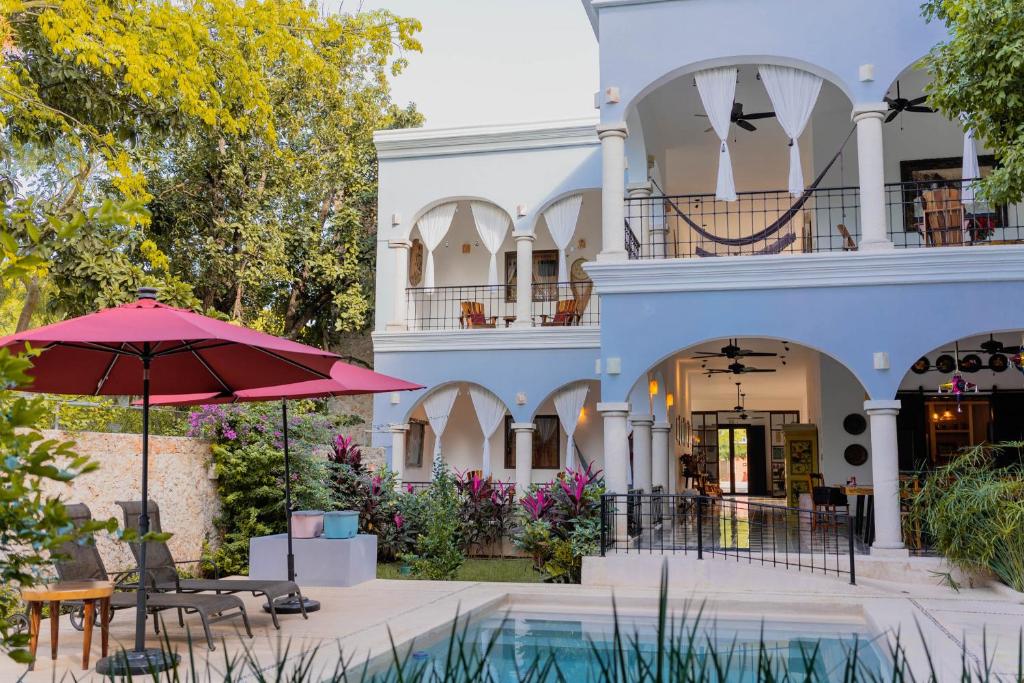
[[[519,502],[513,542],[546,581],[580,583],[584,556],[599,550],[603,493],[601,471],[588,465],[531,486]]]

